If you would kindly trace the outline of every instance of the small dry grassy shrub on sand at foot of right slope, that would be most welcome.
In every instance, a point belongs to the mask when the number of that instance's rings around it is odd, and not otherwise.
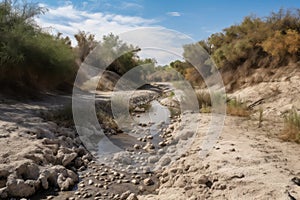
[[[247,105],[238,98],[231,99],[227,103],[227,114],[239,117],[249,117],[251,112]]]

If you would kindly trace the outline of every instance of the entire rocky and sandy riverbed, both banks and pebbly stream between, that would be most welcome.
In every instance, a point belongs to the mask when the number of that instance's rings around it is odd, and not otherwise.
[[[132,131],[107,134],[122,151],[104,159],[86,150],[74,128],[41,117],[70,102],[70,97],[48,95],[38,102],[1,97],[0,198],[298,199],[299,145],[283,142],[278,135],[285,102],[300,110],[299,80],[294,76],[232,94],[252,105],[268,92],[259,101],[264,110],[261,126],[257,112],[250,118],[227,117],[205,157],[201,152],[211,114],[182,112],[168,115],[168,122],[140,121],[132,124]],[[167,105],[168,99],[162,103]],[[143,121],[144,111],[135,109],[132,117]]]

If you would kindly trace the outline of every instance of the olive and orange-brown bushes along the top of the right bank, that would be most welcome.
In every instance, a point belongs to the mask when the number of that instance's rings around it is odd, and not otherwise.
[[[276,68],[300,60],[300,9],[281,9],[265,18],[245,17],[240,24],[196,44],[207,51],[222,75],[230,76],[223,77],[225,84],[238,78],[245,80],[254,71],[252,69]],[[196,44],[184,46],[184,58],[189,61],[196,57],[202,75],[209,76],[211,61],[205,54],[195,52],[197,48],[193,46]],[[196,85],[202,81],[200,74],[187,62],[177,62],[176,69]]]

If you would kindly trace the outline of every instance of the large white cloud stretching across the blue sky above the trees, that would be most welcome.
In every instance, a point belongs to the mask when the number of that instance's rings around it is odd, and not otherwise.
[[[191,43],[191,39],[183,34],[158,26],[155,19],[82,11],[70,4],[50,8],[49,12],[36,21],[54,34],[61,32],[64,36],[69,36],[73,45],[76,44],[73,36],[79,30],[95,34],[97,40],[109,33],[117,34],[124,42],[142,48],[139,53],[142,58],[155,58],[159,64],[180,59],[182,45]]]

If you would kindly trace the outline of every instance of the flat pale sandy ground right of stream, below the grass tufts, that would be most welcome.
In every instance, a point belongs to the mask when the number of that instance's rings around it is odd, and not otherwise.
[[[200,159],[209,116],[201,116],[198,138],[188,153],[160,177],[158,195],[140,199],[289,199],[300,198],[291,179],[300,176],[300,148],[276,135],[282,124],[227,117],[221,137]]]

